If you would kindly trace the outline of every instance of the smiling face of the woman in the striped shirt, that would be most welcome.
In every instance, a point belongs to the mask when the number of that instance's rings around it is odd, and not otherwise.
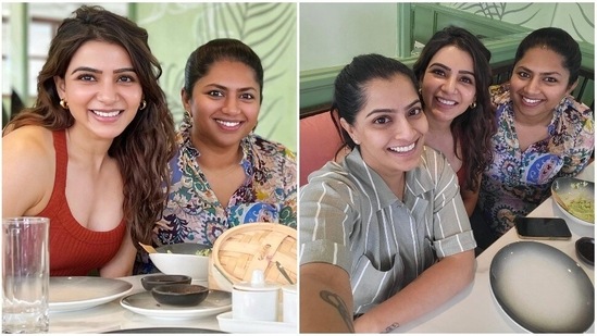
[[[403,75],[365,85],[366,102],[353,125],[343,127],[360,145],[363,160],[384,179],[419,165],[427,120],[419,95]],[[387,179],[386,179],[387,181]]]

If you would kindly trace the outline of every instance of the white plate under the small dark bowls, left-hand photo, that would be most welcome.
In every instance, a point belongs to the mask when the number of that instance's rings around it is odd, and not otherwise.
[[[211,316],[232,308],[232,294],[210,290],[204,301],[197,306],[183,307],[159,303],[151,293],[142,291],[121,299],[121,306],[137,314],[156,319],[188,320]]]

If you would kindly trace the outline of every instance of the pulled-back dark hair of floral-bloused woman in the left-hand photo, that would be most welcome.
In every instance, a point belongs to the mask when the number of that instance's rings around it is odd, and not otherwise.
[[[261,59],[240,40],[234,38],[216,38],[200,46],[190,53],[185,66],[184,90],[192,97],[195,83],[208,74],[213,63],[219,61],[240,62],[254,72],[254,79],[259,84],[259,102],[263,102],[263,66]]]

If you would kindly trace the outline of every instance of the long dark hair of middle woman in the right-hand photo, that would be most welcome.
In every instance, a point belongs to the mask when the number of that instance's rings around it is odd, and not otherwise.
[[[455,140],[455,153],[458,155],[456,148],[458,144],[461,144],[463,158],[459,157],[459,159],[462,160],[468,173],[465,186],[461,187],[477,190],[480,182],[476,176],[483,173],[493,160],[492,136],[497,130],[489,97],[489,85],[492,84],[489,59],[492,53],[469,30],[448,26],[433,35],[414,63],[413,70],[419,82],[423,82],[425,71],[435,53],[446,46],[455,46],[469,53],[473,59],[476,107],[474,109],[469,107],[464,113],[457,116],[450,128]]]

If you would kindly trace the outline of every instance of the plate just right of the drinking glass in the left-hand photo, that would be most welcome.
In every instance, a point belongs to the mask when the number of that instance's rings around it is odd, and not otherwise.
[[[128,282],[99,276],[50,276],[50,312],[87,309],[127,295]]]

